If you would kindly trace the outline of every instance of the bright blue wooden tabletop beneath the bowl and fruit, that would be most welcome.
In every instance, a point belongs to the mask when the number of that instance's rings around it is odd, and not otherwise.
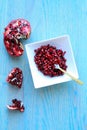
[[[3,32],[13,19],[30,21],[29,42],[69,34],[79,76],[74,81],[35,89],[26,51],[19,58],[6,52]],[[21,89],[6,77],[14,67],[23,70]],[[87,130],[87,0],[0,0],[0,130]],[[11,99],[24,102],[24,113],[9,111]]]

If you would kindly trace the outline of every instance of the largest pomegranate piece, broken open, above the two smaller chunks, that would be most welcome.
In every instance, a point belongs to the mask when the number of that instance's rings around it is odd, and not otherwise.
[[[4,31],[4,45],[11,56],[21,56],[24,52],[20,39],[30,37],[31,26],[27,20],[11,21]]]

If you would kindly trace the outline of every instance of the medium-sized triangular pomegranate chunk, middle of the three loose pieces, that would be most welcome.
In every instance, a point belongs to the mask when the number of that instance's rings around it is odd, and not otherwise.
[[[19,68],[14,68],[7,77],[7,82],[11,85],[15,85],[18,88],[21,88],[23,81],[23,73]]]

